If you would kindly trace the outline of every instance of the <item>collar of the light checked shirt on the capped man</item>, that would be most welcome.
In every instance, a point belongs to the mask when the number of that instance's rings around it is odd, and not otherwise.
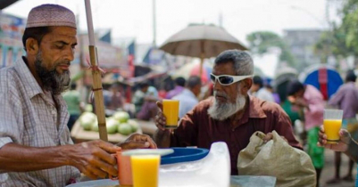
[[[18,61],[15,62],[15,70],[18,73],[21,82],[24,83],[26,93],[28,93],[29,98],[34,97],[39,93],[43,93],[40,85],[38,85],[37,80],[32,75],[31,71],[29,71],[29,67],[26,65],[26,58],[22,57]]]

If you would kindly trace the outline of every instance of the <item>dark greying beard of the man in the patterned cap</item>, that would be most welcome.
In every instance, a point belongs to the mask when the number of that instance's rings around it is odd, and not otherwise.
[[[35,68],[38,77],[41,79],[43,89],[51,92],[54,95],[58,95],[67,90],[71,81],[69,70],[63,70],[62,74],[57,72],[56,68],[61,64],[70,64],[70,61],[58,63],[54,66],[53,69],[47,70],[43,66],[41,52],[37,53],[35,59]]]

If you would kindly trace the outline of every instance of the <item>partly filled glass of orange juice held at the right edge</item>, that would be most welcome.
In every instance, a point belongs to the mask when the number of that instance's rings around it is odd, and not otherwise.
[[[323,127],[327,143],[339,141],[339,130],[342,126],[343,110],[324,110]]]

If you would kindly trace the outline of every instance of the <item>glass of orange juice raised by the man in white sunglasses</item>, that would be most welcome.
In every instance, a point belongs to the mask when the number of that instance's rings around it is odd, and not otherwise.
[[[177,128],[179,118],[179,101],[178,100],[163,100],[162,112],[167,118],[166,128]]]

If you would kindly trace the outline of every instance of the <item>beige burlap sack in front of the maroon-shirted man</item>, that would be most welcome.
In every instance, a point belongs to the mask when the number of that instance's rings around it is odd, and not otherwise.
[[[276,131],[264,143],[265,134],[255,132],[237,158],[238,175],[270,175],[277,178],[277,187],[316,186],[312,160],[303,151],[291,147]]]

